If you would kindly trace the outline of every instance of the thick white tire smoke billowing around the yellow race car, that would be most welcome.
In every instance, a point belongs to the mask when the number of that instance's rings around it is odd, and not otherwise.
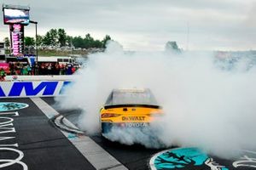
[[[63,108],[81,108],[80,127],[96,133],[100,108],[113,88],[150,88],[165,111],[154,124],[160,143],[233,156],[256,148],[256,69],[252,59],[229,59],[202,52],[131,53],[109,42],[105,53],[90,54],[68,98],[57,100]],[[137,132],[117,130],[112,139],[157,146]]]

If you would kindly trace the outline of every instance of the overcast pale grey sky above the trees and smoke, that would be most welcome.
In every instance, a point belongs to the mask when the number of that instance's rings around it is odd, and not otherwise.
[[[1,0],[29,5],[38,34],[110,35],[129,50],[163,50],[168,41],[189,50],[256,49],[256,0]],[[2,12],[3,13],[3,12]],[[0,40],[9,36],[0,14]],[[34,36],[33,25],[26,36]]]

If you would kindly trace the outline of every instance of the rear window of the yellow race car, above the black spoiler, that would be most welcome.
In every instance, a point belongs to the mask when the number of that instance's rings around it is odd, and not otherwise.
[[[157,105],[150,90],[113,90],[106,105]]]

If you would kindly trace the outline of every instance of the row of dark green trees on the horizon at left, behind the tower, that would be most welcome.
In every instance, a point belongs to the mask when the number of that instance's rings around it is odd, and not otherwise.
[[[50,29],[44,36],[38,35],[37,44],[41,47],[74,47],[74,48],[106,48],[106,43],[111,37],[106,35],[102,40],[97,40],[87,33],[84,37],[68,36],[62,29]],[[9,37],[4,38],[5,46],[9,47]],[[26,47],[34,47],[36,40],[34,37],[24,37]]]

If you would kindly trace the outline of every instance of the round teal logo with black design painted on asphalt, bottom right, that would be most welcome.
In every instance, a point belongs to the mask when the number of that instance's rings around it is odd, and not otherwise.
[[[219,165],[218,162],[213,161],[211,157],[197,148],[164,150],[151,158],[150,167],[154,170],[228,170],[227,167]]]

